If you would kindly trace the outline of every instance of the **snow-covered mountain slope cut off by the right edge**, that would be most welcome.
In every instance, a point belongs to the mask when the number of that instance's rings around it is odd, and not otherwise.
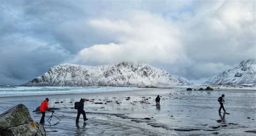
[[[204,84],[252,84],[256,83],[256,60],[242,61],[239,66],[215,74]]]

